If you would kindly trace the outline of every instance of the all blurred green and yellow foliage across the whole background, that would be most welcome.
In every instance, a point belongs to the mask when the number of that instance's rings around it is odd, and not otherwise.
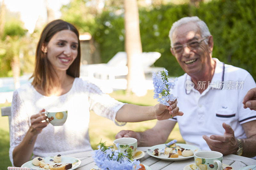
[[[76,25],[80,33],[92,34],[100,44],[98,50],[101,61],[106,63],[117,52],[125,51],[123,1],[108,0],[101,10],[92,2],[71,0],[61,8],[62,19]],[[155,66],[165,67],[171,76],[184,74],[170,52],[168,34],[176,20],[198,16],[212,33],[213,57],[244,68],[256,78],[256,43],[253,36],[256,34],[256,0],[212,0],[201,1],[197,5],[185,0],[180,4],[152,1],[154,3],[147,6],[140,2],[142,0],[138,0],[142,49],[144,52],[157,51],[162,54]],[[37,28],[33,34],[28,35],[17,14],[7,14],[0,40],[1,77],[13,75],[11,65],[15,53],[23,58],[20,61],[21,74],[33,70],[36,40],[42,29]]]

